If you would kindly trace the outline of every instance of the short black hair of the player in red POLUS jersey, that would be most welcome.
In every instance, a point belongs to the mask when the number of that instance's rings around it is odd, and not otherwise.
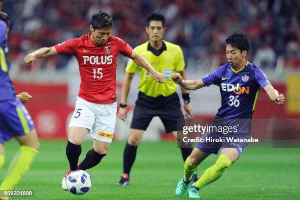
[[[112,17],[102,11],[93,14],[91,25],[94,29],[110,28],[114,26]]]

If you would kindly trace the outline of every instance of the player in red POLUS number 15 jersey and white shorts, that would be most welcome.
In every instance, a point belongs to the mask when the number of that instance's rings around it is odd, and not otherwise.
[[[116,68],[117,54],[132,59],[137,65],[148,70],[152,78],[164,82],[161,73],[156,72],[150,64],[122,39],[111,35],[113,21],[105,12],[92,16],[91,33],[70,39],[50,48],[41,48],[25,56],[26,63],[35,58],[44,58],[56,53],[68,53],[76,56],[81,77],[79,94],[75,111],[71,118],[66,148],[70,169],[67,173],[80,169],[86,170],[100,163],[112,142],[116,123]],[[91,133],[93,148],[77,166],[81,153],[81,143],[87,133]],[[66,186],[66,177],[62,187]]]

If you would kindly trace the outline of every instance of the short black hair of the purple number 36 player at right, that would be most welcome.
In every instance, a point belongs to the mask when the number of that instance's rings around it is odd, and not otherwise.
[[[249,52],[250,50],[250,40],[247,35],[242,32],[235,32],[228,36],[225,43],[239,49],[241,52],[243,50],[247,50],[247,52]]]

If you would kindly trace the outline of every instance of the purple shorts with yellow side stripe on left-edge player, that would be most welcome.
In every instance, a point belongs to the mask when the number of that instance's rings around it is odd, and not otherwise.
[[[33,129],[33,121],[21,100],[0,101],[0,143],[26,135]]]

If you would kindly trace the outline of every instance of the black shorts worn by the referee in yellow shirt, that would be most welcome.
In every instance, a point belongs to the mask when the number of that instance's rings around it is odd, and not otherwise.
[[[158,116],[165,126],[166,132],[177,130],[177,120],[184,119],[180,109],[177,93],[168,97],[149,97],[139,92],[135,101],[130,128],[146,130],[153,117]]]

